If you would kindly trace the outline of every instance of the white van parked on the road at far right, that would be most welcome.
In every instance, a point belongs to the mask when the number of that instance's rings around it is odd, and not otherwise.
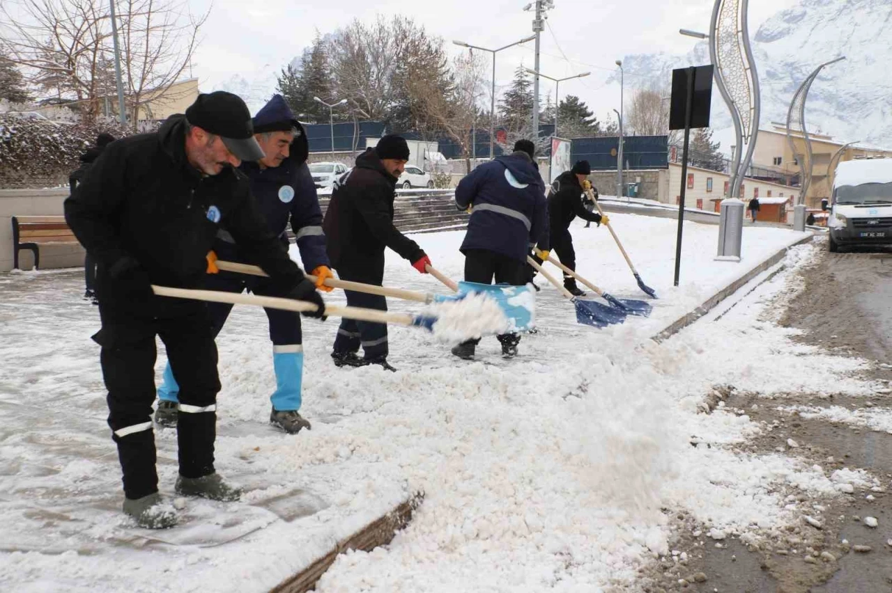
[[[839,163],[833,177],[830,251],[855,245],[892,245],[892,158]]]

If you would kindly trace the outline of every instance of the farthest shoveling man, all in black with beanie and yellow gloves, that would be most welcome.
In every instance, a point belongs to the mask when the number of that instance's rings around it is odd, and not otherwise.
[[[589,212],[582,206],[582,183],[591,175],[589,161],[578,160],[572,169],[558,175],[551,183],[549,193],[549,237],[536,249],[538,259],[544,260],[549,256],[549,250],[554,249],[558,254],[561,264],[571,270],[576,270],[576,252],[573,248],[573,235],[570,234],[570,223],[576,216],[582,220],[597,223],[607,223],[607,216],[601,217],[597,212]],[[585,293],[576,286],[576,280],[564,272],[564,288],[574,296],[583,296]]]

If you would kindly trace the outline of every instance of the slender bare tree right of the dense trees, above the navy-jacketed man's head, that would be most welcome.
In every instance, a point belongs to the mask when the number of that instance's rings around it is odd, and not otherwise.
[[[483,56],[461,53],[452,61],[452,85],[447,94],[434,77],[414,77],[407,81],[409,95],[426,121],[436,126],[458,144],[471,171],[473,129],[479,109],[477,102],[485,93]]]

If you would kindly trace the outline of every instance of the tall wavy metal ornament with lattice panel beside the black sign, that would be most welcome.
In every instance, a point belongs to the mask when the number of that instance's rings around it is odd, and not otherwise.
[[[759,133],[759,77],[749,46],[748,4],[748,0],[715,0],[709,25],[709,56],[715,66],[715,85],[731,111],[736,137],[729,198],[739,198],[740,183],[753,158]],[[744,143],[747,154],[741,159]]]

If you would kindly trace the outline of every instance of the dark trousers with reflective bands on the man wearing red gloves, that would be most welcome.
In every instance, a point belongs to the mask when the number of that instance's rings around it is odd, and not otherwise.
[[[381,255],[380,261],[376,260],[364,269],[342,265],[337,268],[337,275],[341,280],[381,286],[384,282],[384,254]],[[384,296],[353,290],[343,292],[347,296],[348,306],[387,311],[387,299]],[[335,353],[357,353],[360,345],[366,360],[386,358],[390,352],[387,344],[387,324],[342,319],[335,337],[333,347]]]

